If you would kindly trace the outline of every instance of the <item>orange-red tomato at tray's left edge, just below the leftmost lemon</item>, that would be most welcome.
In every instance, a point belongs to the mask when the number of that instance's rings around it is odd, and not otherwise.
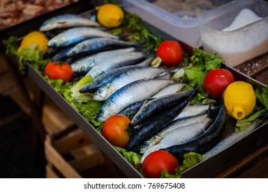
[[[63,80],[63,84],[65,84],[71,81],[74,73],[67,62],[52,61],[45,67],[45,75],[52,80]]]

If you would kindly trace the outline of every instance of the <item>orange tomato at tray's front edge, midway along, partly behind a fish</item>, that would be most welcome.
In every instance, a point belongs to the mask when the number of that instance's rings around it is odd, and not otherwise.
[[[131,120],[124,115],[112,115],[103,124],[102,135],[111,145],[126,147],[129,143],[129,132],[127,132]]]

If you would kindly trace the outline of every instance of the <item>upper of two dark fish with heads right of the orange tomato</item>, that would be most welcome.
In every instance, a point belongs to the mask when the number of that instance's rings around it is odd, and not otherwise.
[[[131,124],[135,126],[144,123],[156,113],[161,112],[161,110],[166,110],[166,108],[170,108],[170,106],[172,106],[173,104],[177,104],[180,101],[187,99],[188,97],[190,97],[190,95],[192,95],[194,90],[195,89],[192,88],[188,91],[164,95],[162,97],[153,99],[139,109],[137,114],[131,120]]]

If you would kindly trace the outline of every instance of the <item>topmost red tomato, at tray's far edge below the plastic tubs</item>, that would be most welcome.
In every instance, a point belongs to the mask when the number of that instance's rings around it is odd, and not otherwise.
[[[161,63],[166,66],[176,66],[183,59],[183,49],[175,40],[165,40],[157,48],[157,56],[161,58]]]

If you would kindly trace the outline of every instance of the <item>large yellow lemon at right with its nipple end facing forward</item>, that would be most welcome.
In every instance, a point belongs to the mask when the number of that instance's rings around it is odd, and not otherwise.
[[[251,84],[237,81],[227,86],[224,92],[227,114],[234,119],[243,119],[256,105],[256,95]]]

